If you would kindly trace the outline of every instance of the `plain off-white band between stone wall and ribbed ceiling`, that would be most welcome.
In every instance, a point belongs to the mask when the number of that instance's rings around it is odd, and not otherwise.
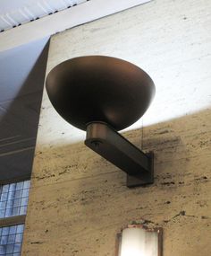
[[[90,0],[74,8],[48,15],[35,22],[26,23],[0,33],[0,51],[13,49],[30,41],[39,40],[150,1],[152,0]]]

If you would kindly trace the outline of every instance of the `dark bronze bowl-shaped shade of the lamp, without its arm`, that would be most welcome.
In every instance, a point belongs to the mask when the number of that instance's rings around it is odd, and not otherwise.
[[[129,127],[148,109],[155,94],[152,79],[138,66],[115,57],[75,57],[46,77],[55,110],[74,127],[105,122],[115,130]]]

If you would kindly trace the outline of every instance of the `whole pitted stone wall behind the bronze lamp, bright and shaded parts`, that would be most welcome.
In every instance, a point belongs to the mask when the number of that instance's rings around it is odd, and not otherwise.
[[[164,256],[210,255],[210,8],[209,0],[157,0],[52,38],[48,71],[101,54],[152,76],[155,101],[122,134],[154,151],[156,181],[128,189],[125,174],[83,145],[85,133],[45,93],[22,255],[112,256],[115,234],[141,219],[163,226]]]

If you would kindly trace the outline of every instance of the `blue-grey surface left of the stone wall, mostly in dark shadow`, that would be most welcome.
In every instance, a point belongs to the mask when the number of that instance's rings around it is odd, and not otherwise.
[[[0,182],[30,178],[48,38],[0,53]]]

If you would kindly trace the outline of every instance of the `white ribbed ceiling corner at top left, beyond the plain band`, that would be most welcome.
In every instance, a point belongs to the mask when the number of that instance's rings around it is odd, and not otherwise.
[[[0,0],[0,31],[57,13],[87,0]]]

